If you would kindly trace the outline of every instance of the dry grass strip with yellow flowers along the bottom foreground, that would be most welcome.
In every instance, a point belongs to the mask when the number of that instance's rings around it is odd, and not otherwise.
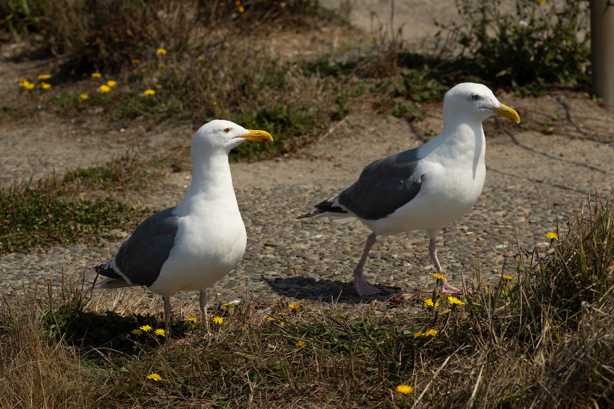
[[[551,251],[519,249],[503,266],[514,280],[482,285],[464,305],[437,296],[427,307],[418,295],[351,310],[219,305],[211,337],[184,311],[171,323],[179,342],[166,343],[131,334],[162,324],[130,297],[123,309],[87,305],[74,289],[52,302],[4,299],[0,406],[612,407],[613,206],[597,194]]]

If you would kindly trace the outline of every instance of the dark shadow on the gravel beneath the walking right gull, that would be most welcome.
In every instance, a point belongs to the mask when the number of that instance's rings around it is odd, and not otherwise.
[[[313,280],[308,277],[276,277],[263,280],[280,296],[297,300],[314,300],[319,302],[351,302],[359,304],[368,300],[386,300],[391,294],[402,292],[400,287],[378,285],[381,290],[373,296],[360,297],[356,294],[351,282],[328,280],[326,278]]]

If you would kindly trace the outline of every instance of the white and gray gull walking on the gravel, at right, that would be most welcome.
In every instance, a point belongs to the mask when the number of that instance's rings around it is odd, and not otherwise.
[[[439,136],[421,147],[369,164],[358,180],[336,197],[298,217],[332,216],[342,222],[357,218],[373,231],[354,269],[354,288],[360,296],[380,292],[362,272],[378,235],[426,230],[430,258],[441,273],[435,239],[480,197],[486,177],[482,121],[495,114],[520,123],[518,113],[497,101],[486,86],[454,86],[443,99],[443,132]],[[440,280],[440,291],[461,290]]]

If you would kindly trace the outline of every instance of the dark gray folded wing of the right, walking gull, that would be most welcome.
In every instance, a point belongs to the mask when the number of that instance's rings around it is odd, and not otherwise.
[[[424,177],[414,179],[418,150],[387,156],[369,164],[353,185],[337,196],[338,203],[365,220],[391,214],[416,197]]]

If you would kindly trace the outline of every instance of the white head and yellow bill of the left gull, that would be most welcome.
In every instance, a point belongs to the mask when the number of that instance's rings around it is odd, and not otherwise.
[[[212,151],[228,154],[232,148],[238,147],[246,140],[270,142],[273,137],[266,131],[246,129],[231,121],[212,120],[201,126],[194,134],[192,156],[211,154]]]

